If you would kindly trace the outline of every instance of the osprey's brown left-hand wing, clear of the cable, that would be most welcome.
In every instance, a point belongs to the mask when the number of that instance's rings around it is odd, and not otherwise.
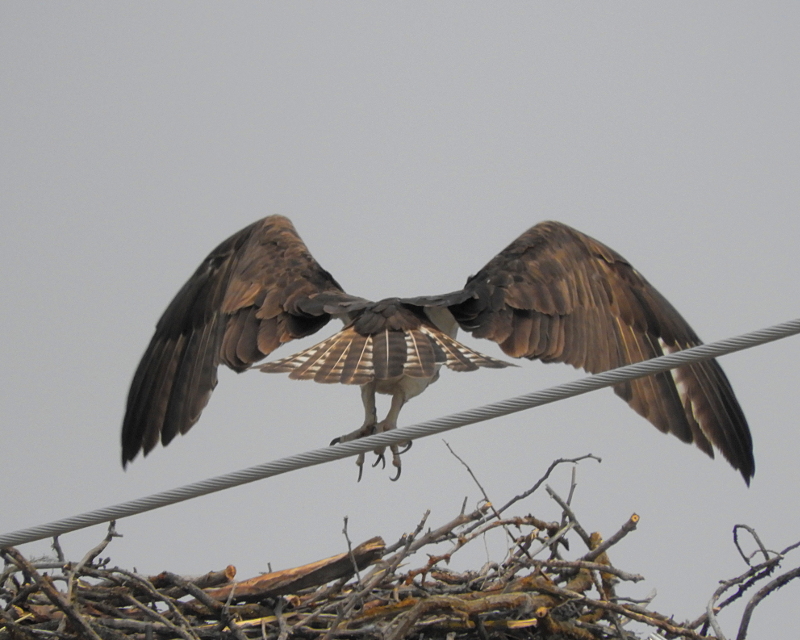
[[[364,302],[317,264],[287,218],[264,218],[228,238],[156,325],[128,393],[123,466],[197,422],[220,363],[243,371]]]

